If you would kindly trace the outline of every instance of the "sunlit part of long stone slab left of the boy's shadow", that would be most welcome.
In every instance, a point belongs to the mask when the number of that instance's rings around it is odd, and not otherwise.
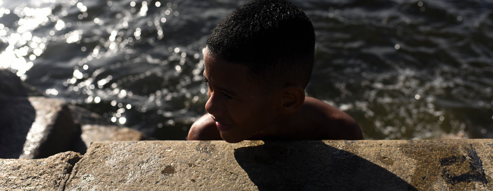
[[[93,142],[66,189],[249,190],[255,184],[233,148],[220,141]]]

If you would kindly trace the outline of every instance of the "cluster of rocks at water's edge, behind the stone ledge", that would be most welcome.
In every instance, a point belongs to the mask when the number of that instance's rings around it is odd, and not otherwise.
[[[137,141],[141,132],[113,125],[85,108],[47,98],[0,69],[0,158],[46,158],[86,153],[93,141]]]

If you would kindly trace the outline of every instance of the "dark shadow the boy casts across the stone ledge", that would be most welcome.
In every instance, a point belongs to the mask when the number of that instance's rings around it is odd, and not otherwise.
[[[385,168],[322,141],[264,142],[234,151],[259,190],[416,190]]]

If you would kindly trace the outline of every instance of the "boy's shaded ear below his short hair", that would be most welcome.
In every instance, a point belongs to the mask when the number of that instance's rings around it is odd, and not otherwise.
[[[292,114],[296,112],[305,101],[305,90],[299,85],[286,85],[281,92],[282,114]]]

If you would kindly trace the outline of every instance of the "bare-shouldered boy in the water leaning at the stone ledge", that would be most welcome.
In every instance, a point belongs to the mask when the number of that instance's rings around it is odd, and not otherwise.
[[[311,20],[287,1],[253,1],[233,11],[207,41],[208,114],[188,140],[362,139],[349,115],[305,97],[314,46]]]

